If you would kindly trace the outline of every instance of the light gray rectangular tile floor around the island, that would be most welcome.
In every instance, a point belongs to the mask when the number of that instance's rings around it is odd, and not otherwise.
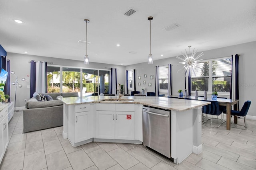
[[[22,133],[22,111],[9,123],[10,143],[0,170],[250,170],[256,169],[256,121],[227,131],[203,126],[203,152],[174,164],[143,145],[88,143],[73,148],[56,127]],[[238,119],[243,123],[243,119]]]

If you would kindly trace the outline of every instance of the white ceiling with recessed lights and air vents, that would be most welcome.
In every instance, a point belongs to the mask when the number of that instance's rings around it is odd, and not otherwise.
[[[125,16],[130,9],[136,12]],[[88,19],[90,62],[142,63],[150,52],[148,16],[154,60],[188,45],[206,51],[256,41],[256,0],[1,0],[0,44],[9,53],[82,61],[86,44],[78,41],[86,40]],[[179,27],[162,30],[172,23]]]

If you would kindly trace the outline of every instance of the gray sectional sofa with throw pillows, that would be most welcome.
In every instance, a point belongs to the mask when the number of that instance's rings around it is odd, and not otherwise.
[[[26,102],[23,110],[23,133],[62,126],[63,103],[57,97],[78,97],[78,92],[44,94],[51,96],[53,100],[39,102],[36,99],[38,96],[34,96]]]

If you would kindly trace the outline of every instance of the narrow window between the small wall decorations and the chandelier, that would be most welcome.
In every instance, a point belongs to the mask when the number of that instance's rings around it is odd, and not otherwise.
[[[158,67],[159,92],[168,91],[168,65]]]

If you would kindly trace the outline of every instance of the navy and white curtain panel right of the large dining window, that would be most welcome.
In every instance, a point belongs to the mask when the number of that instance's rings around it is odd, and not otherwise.
[[[230,83],[230,99],[239,99],[239,84],[238,84],[239,55],[238,54],[232,55],[231,58],[232,58],[232,70],[231,70],[231,83]],[[239,104],[237,105],[237,109],[239,110]]]

